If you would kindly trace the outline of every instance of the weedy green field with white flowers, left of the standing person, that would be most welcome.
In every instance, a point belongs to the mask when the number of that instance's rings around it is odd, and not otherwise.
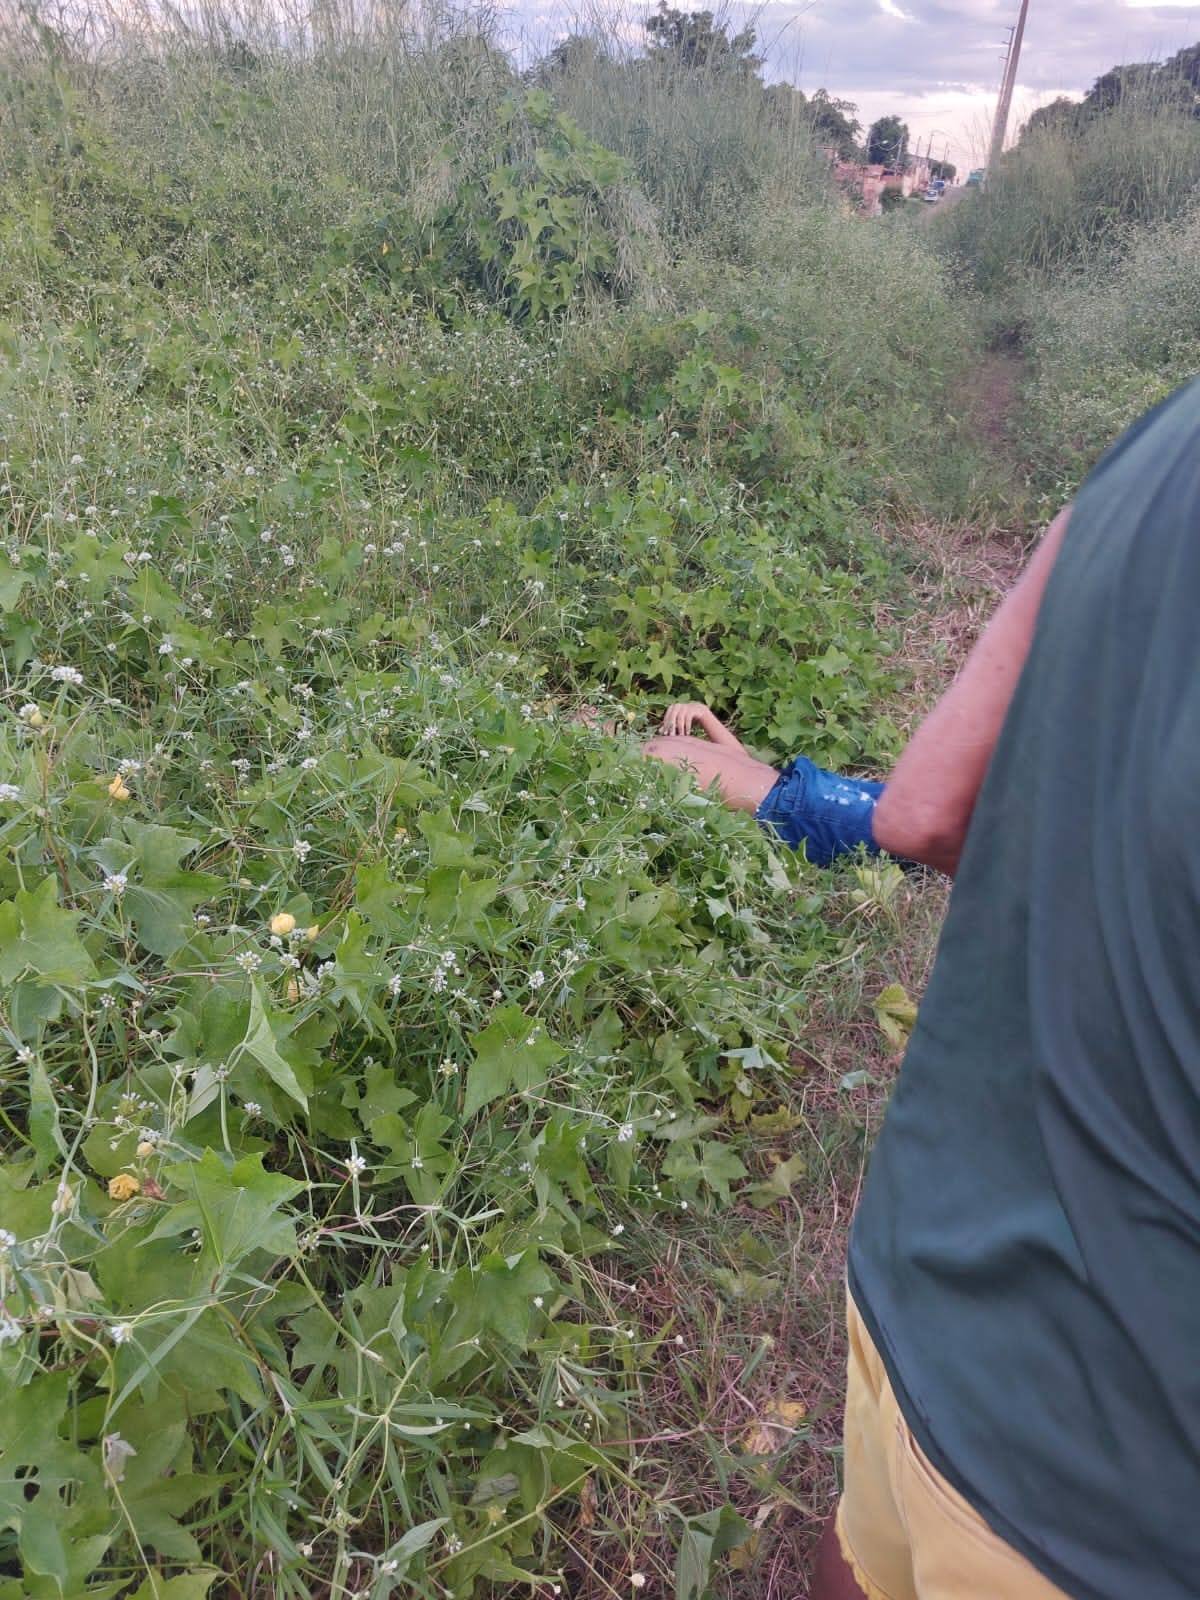
[[[987,318],[742,80],[326,24],[0,61],[0,1600],[794,1597],[942,890],[638,736],[886,770]]]

